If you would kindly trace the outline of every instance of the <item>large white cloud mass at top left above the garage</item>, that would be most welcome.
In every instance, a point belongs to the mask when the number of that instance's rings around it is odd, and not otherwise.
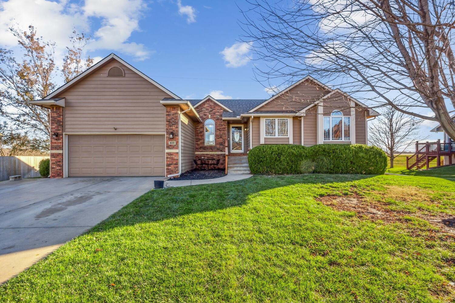
[[[44,40],[56,42],[56,63],[69,44],[68,36],[73,29],[93,35],[86,50],[109,50],[145,59],[150,51],[142,44],[129,42],[131,33],[139,29],[143,0],[86,0],[70,4],[68,0],[7,0],[0,2],[0,45],[13,48],[17,41],[8,28],[27,30],[34,25]],[[96,22],[91,22],[96,21]],[[98,28],[91,24],[101,23]]]

